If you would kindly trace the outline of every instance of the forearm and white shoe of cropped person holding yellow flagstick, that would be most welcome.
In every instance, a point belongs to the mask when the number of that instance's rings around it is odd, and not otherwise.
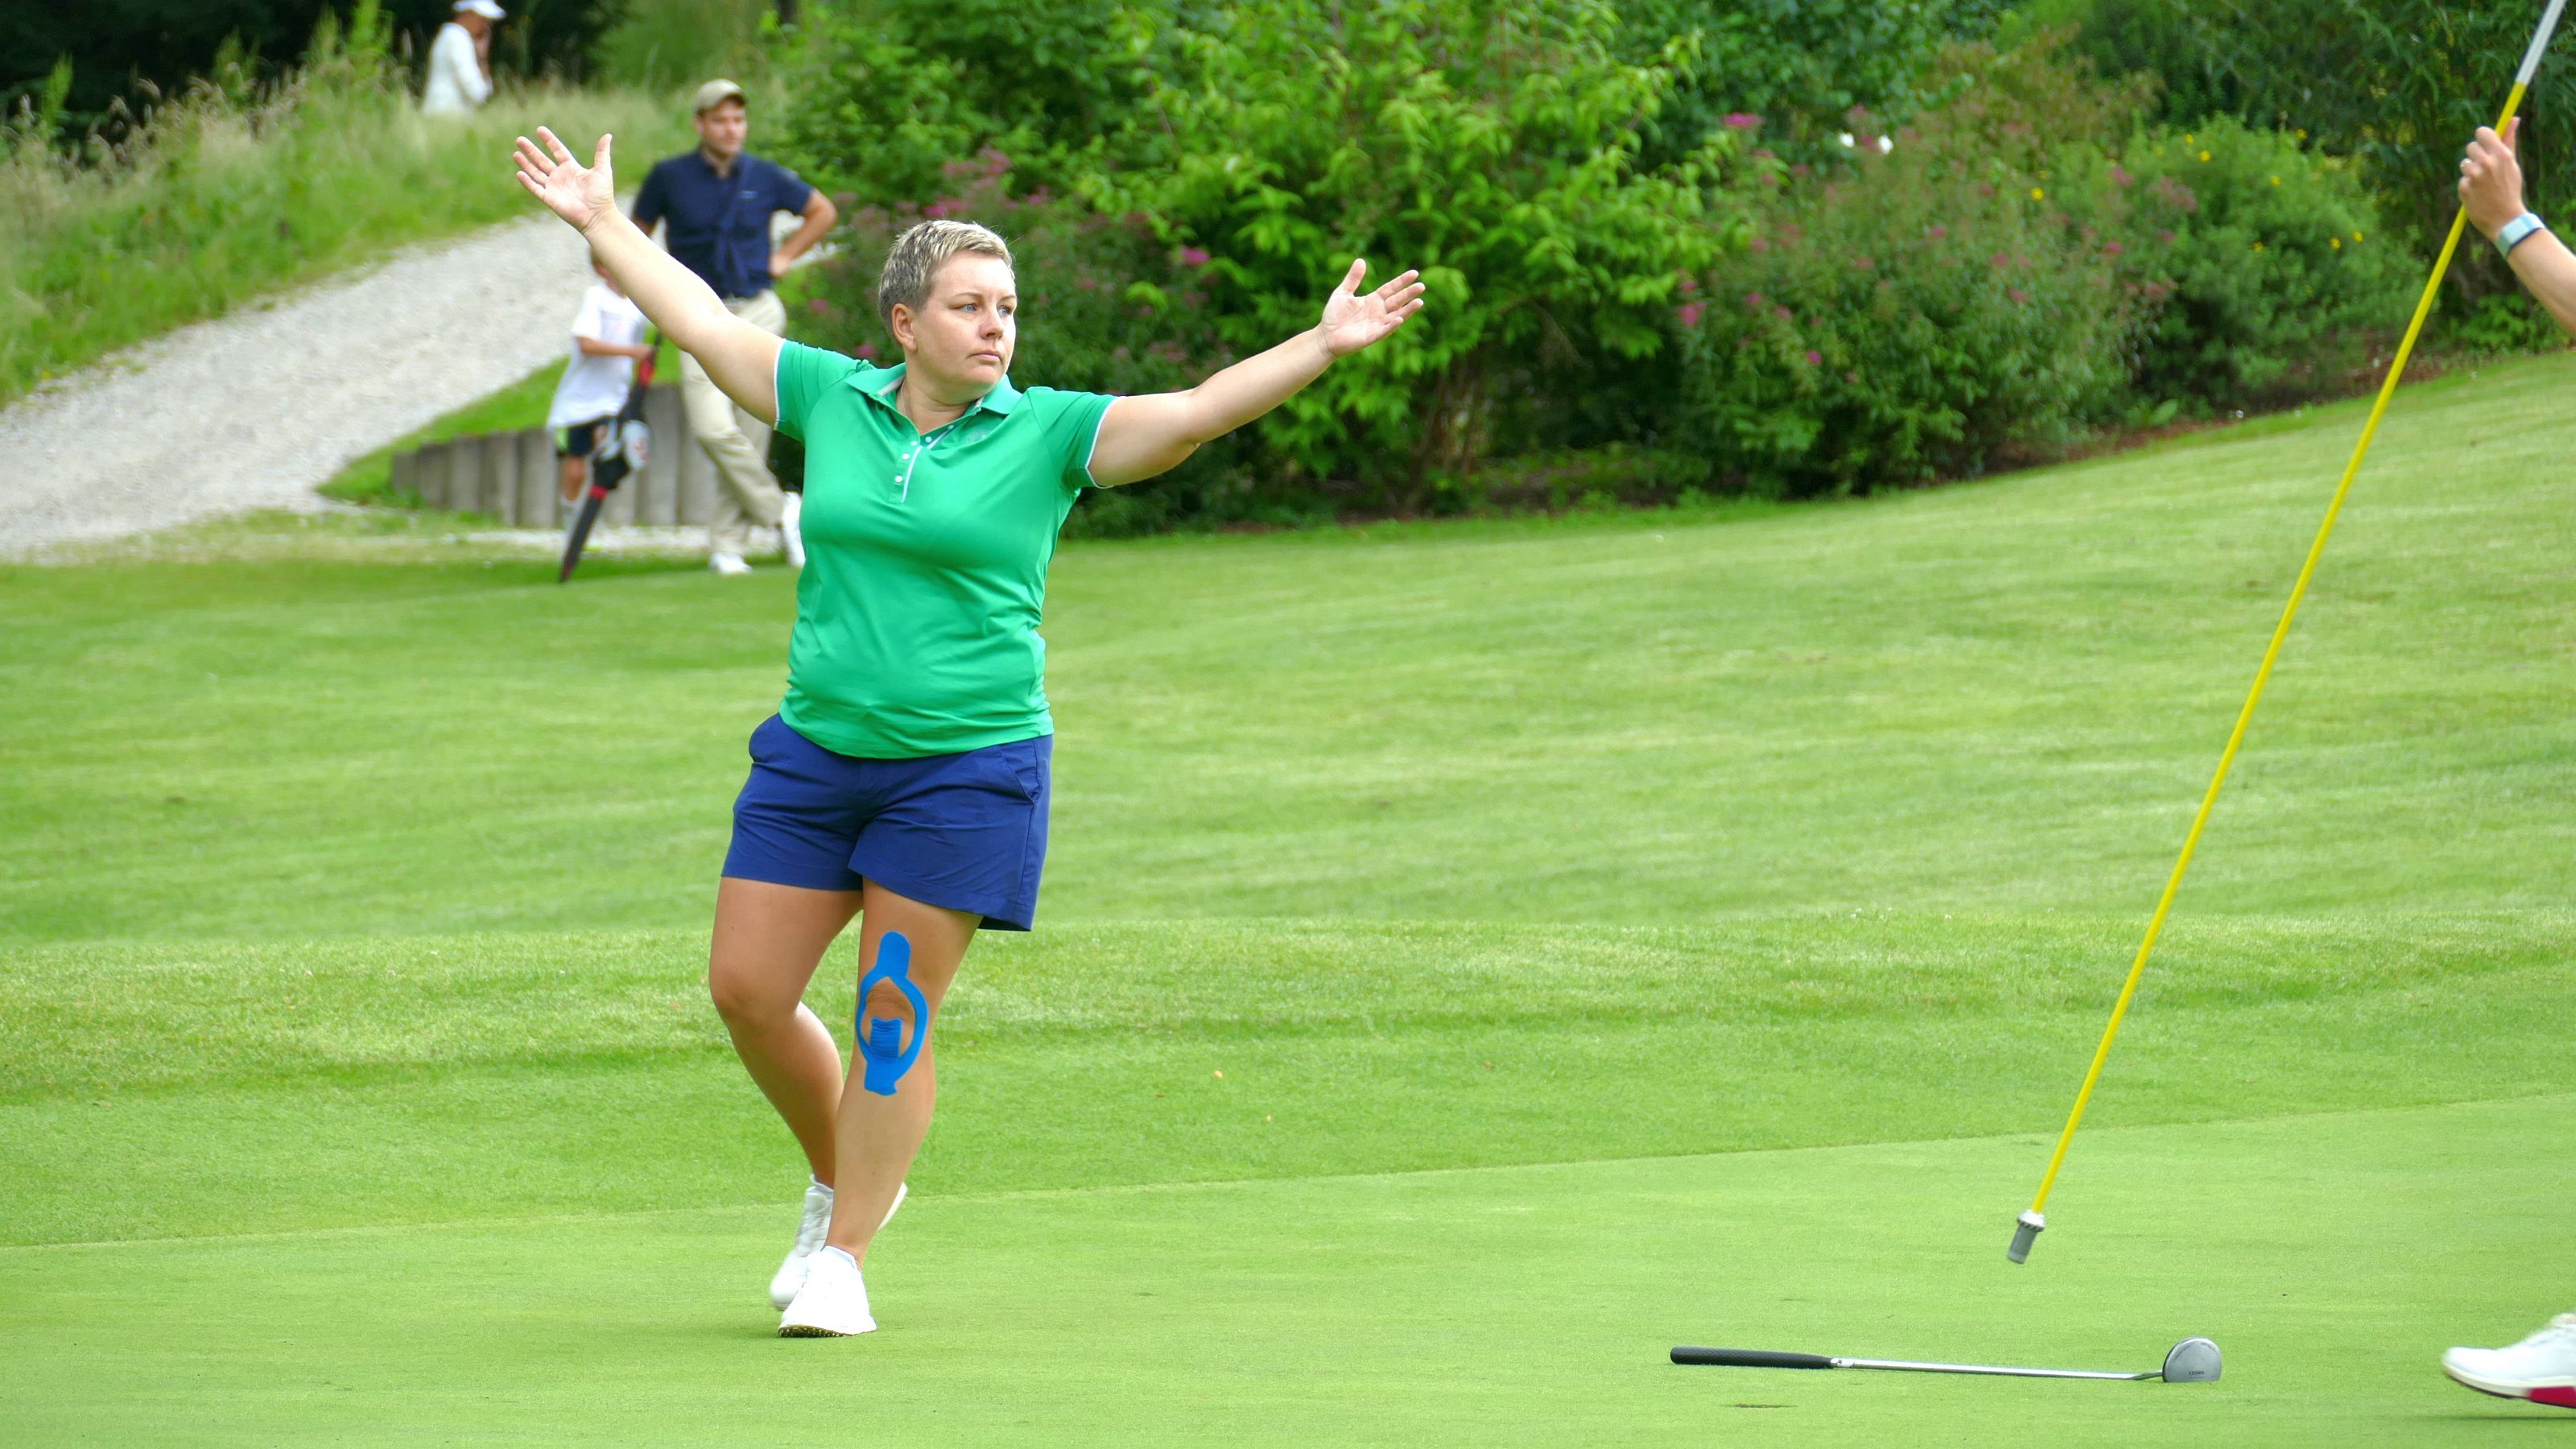
[[[2522,162],[2514,157],[2519,137],[2522,121],[2501,137],[2478,126],[2460,157],[2460,206],[2522,286],[2576,335],[2576,253],[2522,204]],[[2576,1408],[2576,1312],[2561,1312],[2522,1343],[2452,1348],[2442,1354],[2442,1372],[2481,1395]]]

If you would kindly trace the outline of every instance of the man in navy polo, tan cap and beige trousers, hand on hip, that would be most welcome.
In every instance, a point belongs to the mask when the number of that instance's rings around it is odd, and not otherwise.
[[[680,266],[714,286],[737,317],[786,335],[788,315],[770,281],[819,242],[840,214],[793,170],[747,155],[742,142],[750,129],[739,85],[732,80],[701,85],[698,150],[652,168],[636,193],[634,222],[644,232],[662,222],[662,245]],[[778,211],[796,211],[804,227],[773,250],[770,217]],[[752,523],[762,523],[778,526],[788,562],[801,567],[804,544],[796,536],[801,500],[781,495],[778,480],[770,477],[768,423],[734,407],[688,353],[680,353],[680,402],[688,407],[688,431],[698,436],[724,482],[716,490],[716,518],[706,526],[708,565],[716,572],[750,572],[742,554],[750,549]]]

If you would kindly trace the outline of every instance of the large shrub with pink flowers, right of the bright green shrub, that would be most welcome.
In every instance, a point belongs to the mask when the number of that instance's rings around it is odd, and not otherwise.
[[[1674,312],[1674,438],[1798,498],[1976,474],[2125,405],[2146,281],[2097,139],[2136,98],[1965,46],[1960,98],[1832,175]]]

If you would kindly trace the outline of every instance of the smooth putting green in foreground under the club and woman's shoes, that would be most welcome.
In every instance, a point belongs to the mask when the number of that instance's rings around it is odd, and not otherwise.
[[[925,1196],[871,1256],[884,1330],[824,1346],[773,1338],[757,1299],[786,1204],[13,1253],[0,1408],[31,1441],[185,1423],[211,1444],[399,1444],[505,1421],[662,1444],[793,1405],[891,1446],[1806,1446],[2004,1423],[2038,1444],[2488,1444],[2535,1413],[2473,1400],[2432,1356],[2530,1318],[2532,1279],[2576,1256],[2555,1158],[2463,1142],[2548,1142],[2568,1106],[2102,1132],[2099,1225],[2045,1274],[2009,1274],[1978,1230],[2038,1140]],[[2192,1330],[2228,1348],[2223,1382],[1662,1361],[1713,1338],[2148,1366]]]

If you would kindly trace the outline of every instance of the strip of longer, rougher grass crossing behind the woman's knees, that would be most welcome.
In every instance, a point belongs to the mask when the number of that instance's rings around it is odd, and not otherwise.
[[[1700,928],[1332,920],[987,936],[945,1042],[2097,1008],[2123,918],[1747,915]],[[2447,993],[2566,959],[2576,913],[2177,923],[2164,1011]],[[0,1101],[466,1062],[724,1055],[696,931],[0,951]],[[848,1044],[850,946],[817,972]]]

